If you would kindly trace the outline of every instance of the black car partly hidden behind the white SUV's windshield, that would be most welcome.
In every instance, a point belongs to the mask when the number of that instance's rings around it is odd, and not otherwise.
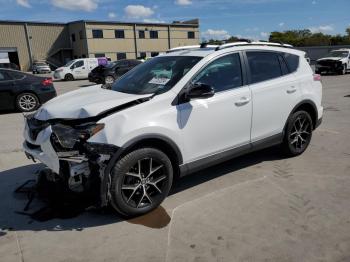
[[[142,62],[136,59],[125,59],[98,66],[89,74],[89,81],[96,84],[113,84],[113,82]]]

